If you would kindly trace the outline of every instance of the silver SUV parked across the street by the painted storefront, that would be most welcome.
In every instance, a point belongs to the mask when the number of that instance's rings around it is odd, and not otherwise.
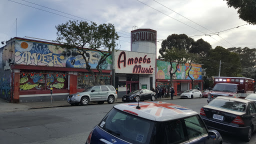
[[[104,101],[112,104],[117,98],[116,91],[112,85],[95,85],[85,88],[82,92],[67,96],[67,102],[71,105],[87,105],[89,102],[103,104]]]

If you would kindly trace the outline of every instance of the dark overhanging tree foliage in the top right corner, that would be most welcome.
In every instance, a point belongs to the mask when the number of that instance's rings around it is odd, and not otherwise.
[[[239,18],[249,24],[256,24],[256,0],[226,0],[228,7],[237,9]]]

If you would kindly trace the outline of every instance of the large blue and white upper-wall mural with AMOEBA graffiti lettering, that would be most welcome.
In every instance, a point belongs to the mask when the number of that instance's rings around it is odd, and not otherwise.
[[[89,65],[95,69],[101,57],[98,51],[87,51],[84,56],[89,58]],[[111,69],[111,56],[100,64],[101,69]],[[85,60],[76,48],[65,51],[56,45],[15,40],[15,63],[25,65],[43,65],[55,67],[85,68]]]

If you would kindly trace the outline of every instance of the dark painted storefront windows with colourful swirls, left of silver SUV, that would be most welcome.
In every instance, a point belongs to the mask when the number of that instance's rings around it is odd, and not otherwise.
[[[38,71],[36,71],[38,72]],[[41,89],[66,89],[67,74],[61,72],[49,73],[20,73],[20,90],[41,90]]]

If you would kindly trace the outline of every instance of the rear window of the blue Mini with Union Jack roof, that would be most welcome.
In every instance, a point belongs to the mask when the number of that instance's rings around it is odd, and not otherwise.
[[[130,143],[149,143],[154,122],[112,108],[98,126]]]

